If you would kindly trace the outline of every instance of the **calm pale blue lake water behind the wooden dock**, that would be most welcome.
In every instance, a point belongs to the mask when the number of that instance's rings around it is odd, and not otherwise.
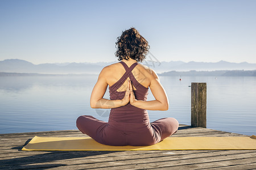
[[[97,76],[1,76],[0,133],[69,130],[82,114],[108,121],[109,109],[92,109]],[[207,128],[246,135],[256,130],[256,77],[160,76],[168,111],[148,111],[150,120],[175,117],[190,125],[191,82],[207,82]],[[106,98],[109,97],[107,90]],[[148,100],[154,99],[152,95]]]

